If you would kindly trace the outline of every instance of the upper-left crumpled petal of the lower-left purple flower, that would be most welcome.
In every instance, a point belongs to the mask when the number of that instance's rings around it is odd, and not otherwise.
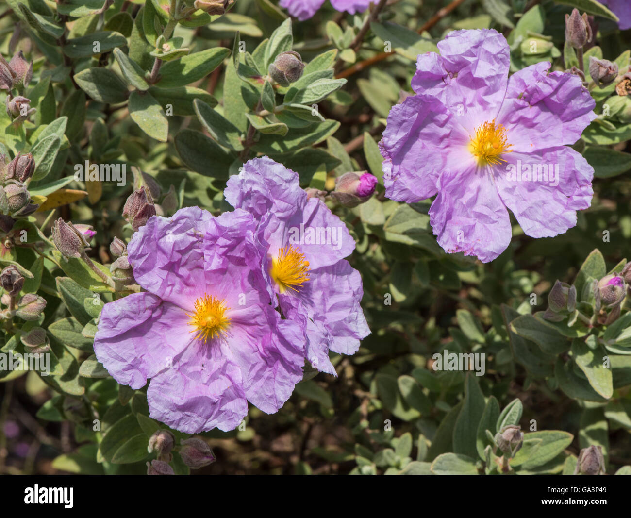
[[[136,282],[184,309],[205,285],[202,241],[213,216],[199,207],[180,209],[170,218],[155,216],[134,233],[127,250]]]

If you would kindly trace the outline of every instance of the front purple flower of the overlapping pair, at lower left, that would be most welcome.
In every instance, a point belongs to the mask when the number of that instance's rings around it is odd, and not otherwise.
[[[247,401],[276,412],[302,379],[302,330],[269,305],[245,211],[155,216],[127,246],[144,288],[103,307],[94,350],[117,382],[147,390],[150,415],[186,433],[232,430]]]

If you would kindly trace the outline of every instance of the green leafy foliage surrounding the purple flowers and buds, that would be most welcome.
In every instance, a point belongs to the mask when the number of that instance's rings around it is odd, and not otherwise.
[[[630,97],[615,85],[591,90],[598,118],[575,148],[594,167],[595,194],[577,227],[532,240],[515,225],[509,249],[485,266],[437,245],[430,201],[384,197],[377,146],[391,106],[401,90],[410,91],[416,56],[437,50],[454,29],[504,32],[512,71],[540,61],[567,69],[578,58],[564,45],[563,17],[577,6],[601,23],[600,46],[586,50],[584,69],[589,57],[606,57],[624,74],[628,35],[606,7],[542,1],[524,12],[525,1],[482,0],[418,33],[442,3],[427,0],[420,9],[416,0],[401,0],[373,19],[365,13],[338,21],[325,9],[299,32],[269,0],[238,0],[223,16],[179,1],[169,9],[157,0],[7,4],[0,51],[9,56],[19,47],[33,60],[32,86],[20,93],[36,111],[15,124],[0,110],[0,154],[32,153],[28,192],[39,208],[0,229],[0,264],[20,269],[22,295],[38,293],[47,304],[36,320],[4,326],[1,350],[24,353],[23,337],[42,327],[51,365],[42,377],[5,370],[0,385],[23,382],[33,401],[50,394],[33,408],[47,429],[72,423],[76,449],[57,456],[54,468],[144,473],[148,437],[164,428],[148,416],[145,391],[118,386],[92,349],[103,304],[130,289],[112,276],[107,250],[114,237],[131,236],[121,218],[131,182],[78,181],[74,166],[133,164],[133,187],[151,189],[163,213],[192,205],[217,213],[229,209],[222,194],[228,177],[248,158],[268,155],[298,172],[304,187],[331,190],[350,171],[369,170],[379,180],[366,203],[332,206],[357,241],[351,262],[362,274],[372,334],[357,355],[333,355],[337,378],[305,376],[278,414],[251,409],[244,427],[204,433],[218,453],[213,469],[498,473],[505,459],[495,435],[528,423],[521,449],[507,461],[512,472],[573,473],[587,445],[603,447],[608,473],[630,471],[628,305],[611,325],[590,327],[570,315],[546,320],[538,302],[553,280],[574,278],[577,303],[591,316],[593,291],[585,286],[608,273],[604,257],[620,271],[631,256],[631,184],[623,175],[631,168]],[[281,86],[268,69],[290,50],[300,53],[304,73]],[[93,225],[90,259],[101,275],[82,259],[61,257],[49,230],[60,215]],[[589,254],[594,248],[604,257]],[[484,353],[485,375],[436,372],[432,356],[444,350]],[[188,471],[177,453],[172,466]]]

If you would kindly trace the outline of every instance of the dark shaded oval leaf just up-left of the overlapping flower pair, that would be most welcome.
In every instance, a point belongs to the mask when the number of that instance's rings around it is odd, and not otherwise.
[[[183,129],[175,135],[175,149],[192,171],[209,178],[228,179],[233,156],[199,131]]]

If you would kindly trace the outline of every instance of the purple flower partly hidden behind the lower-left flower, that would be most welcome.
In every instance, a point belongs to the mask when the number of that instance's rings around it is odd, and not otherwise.
[[[259,221],[269,296],[302,328],[307,360],[335,374],[329,349],[354,354],[370,333],[360,306],[362,279],[344,259],[355,249],[346,225],[300,189],[295,172],[267,156],[245,163],[224,195]]]

